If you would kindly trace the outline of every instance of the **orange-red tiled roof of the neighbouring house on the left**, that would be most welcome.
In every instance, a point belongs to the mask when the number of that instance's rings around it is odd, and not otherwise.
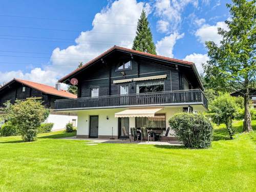
[[[19,83],[24,84],[25,86],[36,89],[38,91],[41,91],[41,92],[49,94],[49,95],[55,95],[55,96],[65,97],[65,98],[77,98],[76,95],[69,93],[65,90],[57,90],[54,87],[47,86],[46,84],[41,84],[41,83],[37,83],[37,82],[32,82],[32,81],[23,80],[23,79],[16,79],[16,78],[14,78],[13,80],[11,80],[7,84],[5,84],[3,87],[1,87],[0,91],[3,90],[5,87],[7,87],[9,84],[11,84],[14,81],[17,81]]]

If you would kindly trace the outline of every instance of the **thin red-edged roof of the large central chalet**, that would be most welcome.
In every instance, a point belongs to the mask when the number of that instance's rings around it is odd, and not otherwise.
[[[75,74],[76,72],[82,70],[83,68],[91,65],[94,61],[98,60],[99,58],[103,57],[104,55],[110,53],[113,50],[122,50],[122,51],[127,51],[130,53],[135,53],[135,54],[140,54],[140,55],[145,55],[145,56],[149,56],[149,57],[154,57],[154,58],[159,58],[159,59],[163,59],[163,60],[167,60],[167,61],[174,61],[174,62],[179,62],[182,63],[184,65],[194,65],[193,62],[189,62],[189,61],[184,61],[184,60],[180,60],[180,59],[174,59],[174,58],[169,58],[169,57],[164,57],[164,56],[160,56],[160,55],[154,55],[151,53],[145,53],[145,52],[141,52],[141,51],[136,51],[133,49],[127,49],[124,47],[119,47],[119,46],[114,46],[112,48],[110,48],[109,50],[106,50],[105,52],[103,52],[102,54],[100,54],[98,57],[92,59],[91,61],[87,62],[86,64],[84,64],[82,67],[74,70],[73,72],[71,72],[70,74],[66,75],[65,77],[62,77],[61,79],[59,79],[59,82],[63,82],[64,80],[66,80],[69,76]]]

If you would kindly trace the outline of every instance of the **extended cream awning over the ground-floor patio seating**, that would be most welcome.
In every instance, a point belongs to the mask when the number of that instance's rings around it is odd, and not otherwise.
[[[155,113],[163,108],[129,109],[115,113],[115,117],[154,117]]]

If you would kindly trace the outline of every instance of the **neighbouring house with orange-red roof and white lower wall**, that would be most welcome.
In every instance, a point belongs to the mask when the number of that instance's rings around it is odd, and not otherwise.
[[[76,95],[61,90],[59,83],[56,83],[55,87],[51,87],[46,84],[14,78],[0,88],[0,107],[3,107],[8,100],[14,103],[16,99],[25,100],[31,98],[42,101],[42,104],[50,109],[50,116],[46,122],[54,123],[53,130],[63,129],[68,122],[73,121],[76,124],[76,116],[53,111],[55,100],[77,98]]]

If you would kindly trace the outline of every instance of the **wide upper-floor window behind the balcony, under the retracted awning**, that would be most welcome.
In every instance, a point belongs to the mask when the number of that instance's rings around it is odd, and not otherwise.
[[[136,84],[136,93],[153,93],[164,91],[164,81],[140,82]]]

